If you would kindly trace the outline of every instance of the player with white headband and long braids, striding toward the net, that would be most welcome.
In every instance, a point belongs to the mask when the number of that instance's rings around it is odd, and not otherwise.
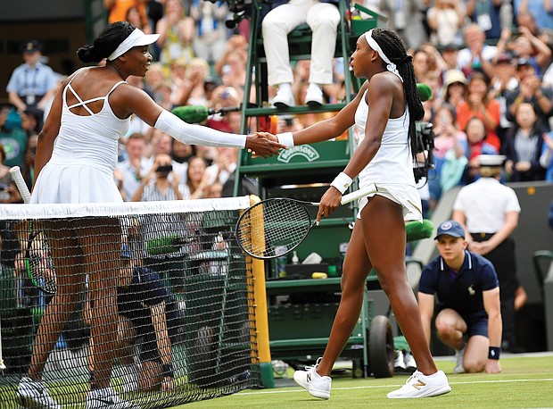
[[[389,398],[442,395],[451,388],[438,371],[417,314],[417,299],[407,280],[405,221],[422,221],[420,196],[413,176],[416,151],[415,121],[424,108],[417,95],[412,58],[401,38],[390,29],[371,29],[360,36],[351,55],[356,77],[367,78],[358,95],[334,118],[307,129],[276,135],[286,146],[310,144],[342,135],[356,125],[359,146],[321,197],[318,220],[340,205],[352,179],[360,187],[376,184],[378,191],[359,203],[356,221],[343,263],[342,299],[322,358],[294,380],[312,396],[328,399],[330,372],[359,319],[365,282],[375,269],[393,313],[417,361],[417,371]]]

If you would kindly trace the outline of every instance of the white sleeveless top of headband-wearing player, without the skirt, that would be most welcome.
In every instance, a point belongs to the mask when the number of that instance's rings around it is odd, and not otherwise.
[[[367,91],[361,98],[355,112],[355,124],[359,130],[359,144],[365,138],[368,104]],[[358,146],[359,146],[358,144]],[[386,185],[409,185],[415,188],[413,159],[409,146],[409,108],[400,118],[389,119],[384,129],[382,144],[373,160],[359,173],[359,188],[371,183]]]

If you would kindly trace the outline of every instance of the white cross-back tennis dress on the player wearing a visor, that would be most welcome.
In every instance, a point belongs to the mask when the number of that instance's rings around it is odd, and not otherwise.
[[[78,73],[73,79],[77,76]],[[62,126],[54,142],[52,158],[38,175],[30,203],[122,202],[113,170],[117,164],[118,140],[127,133],[130,120],[115,116],[108,97],[126,82],[116,83],[106,96],[83,101],[71,87],[71,81],[62,93]],[[77,97],[77,104],[67,105],[68,90]],[[103,100],[102,110],[93,113],[87,104],[100,100]],[[70,112],[71,108],[81,105],[89,115]]]

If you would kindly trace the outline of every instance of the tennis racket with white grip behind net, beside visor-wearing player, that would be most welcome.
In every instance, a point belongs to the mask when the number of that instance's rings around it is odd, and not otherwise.
[[[10,173],[23,202],[29,203],[30,192],[21,175],[20,167],[13,166]],[[55,294],[55,271],[48,238],[44,230],[33,229],[33,221],[29,221],[29,238],[25,246],[24,260],[27,274],[33,285],[46,294]]]

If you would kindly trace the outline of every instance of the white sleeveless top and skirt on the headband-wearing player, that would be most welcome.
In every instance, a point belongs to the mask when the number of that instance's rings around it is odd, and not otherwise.
[[[368,104],[365,101],[367,91],[361,98],[355,112],[355,124],[359,130],[359,144],[365,138],[367,126]],[[413,175],[413,158],[409,146],[409,108],[405,106],[405,113],[400,118],[389,119],[384,129],[382,144],[375,157],[359,172],[359,188],[365,188],[371,183],[376,184],[378,192],[369,195],[380,195],[391,199],[403,206],[405,221],[423,221],[420,195],[415,185]],[[358,144],[358,146],[359,146]],[[359,199],[360,219],[361,210],[367,205],[367,197]]]

